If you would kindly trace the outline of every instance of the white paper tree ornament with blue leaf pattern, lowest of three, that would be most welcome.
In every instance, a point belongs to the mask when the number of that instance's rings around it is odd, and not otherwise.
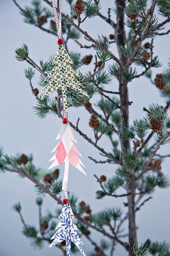
[[[62,218],[56,229],[57,232],[51,239],[54,239],[50,247],[55,246],[62,241],[66,241],[66,253],[67,256],[71,255],[71,242],[75,243],[78,249],[82,252],[84,256],[81,239],[79,237],[80,231],[76,226],[76,220],[72,213],[69,202],[65,204],[62,208],[59,218]],[[82,244],[82,245],[81,245]]]

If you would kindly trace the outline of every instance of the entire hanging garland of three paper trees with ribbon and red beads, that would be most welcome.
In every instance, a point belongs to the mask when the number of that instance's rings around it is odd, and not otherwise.
[[[65,199],[62,200],[63,208],[59,218],[61,221],[57,225],[56,233],[51,239],[54,239],[50,247],[61,243],[62,241],[66,241],[66,254],[67,256],[71,255],[71,242],[75,243],[78,249],[85,255],[82,242],[80,240],[79,234],[80,231],[76,226],[76,220],[72,213],[71,206],[68,201],[67,196],[67,182],[68,182],[68,173],[69,173],[69,163],[79,169],[83,174],[86,173],[83,170],[83,163],[80,159],[81,154],[78,151],[77,147],[75,146],[74,142],[77,143],[75,135],[71,131],[71,127],[67,121],[67,112],[68,112],[68,105],[67,105],[67,91],[68,89],[74,90],[78,93],[82,93],[88,96],[81,88],[81,83],[77,79],[79,76],[74,69],[70,65],[72,65],[72,61],[63,46],[63,40],[61,36],[61,0],[59,2],[59,18],[56,12],[56,7],[54,0],[52,0],[53,9],[55,14],[56,20],[56,27],[58,30],[59,39],[57,41],[59,48],[54,57],[52,63],[52,71],[50,74],[47,75],[44,82],[46,86],[44,87],[43,91],[46,92],[43,94],[42,98],[45,96],[50,95],[51,93],[55,92],[58,89],[62,90],[62,98],[63,98],[63,116],[62,119],[62,127],[61,130],[56,138],[59,140],[59,143],[54,148],[51,153],[55,153],[55,155],[49,160],[53,161],[51,166],[48,168],[53,168],[59,164],[65,163],[64,168],[64,178],[62,189],[65,190]],[[84,166],[85,167],[85,166]]]

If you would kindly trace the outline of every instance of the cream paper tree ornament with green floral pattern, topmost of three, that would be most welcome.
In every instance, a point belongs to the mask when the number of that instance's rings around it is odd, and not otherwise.
[[[71,68],[70,66],[71,64],[73,63],[67,51],[65,50],[63,45],[60,45],[52,63],[53,69],[44,80],[44,82],[48,81],[48,83],[43,88],[43,90],[47,89],[47,91],[43,94],[42,98],[44,98],[45,96],[48,96],[49,94],[53,93],[57,89],[61,88],[62,95],[63,95],[64,113],[67,113],[68,111],[68,105],[67,105],[68,88],[74,91],[77,91],[79,93],[82,93],[88,97],[88,95],[81,89],[82,84],[77,79],[78,74],[74,69]]]

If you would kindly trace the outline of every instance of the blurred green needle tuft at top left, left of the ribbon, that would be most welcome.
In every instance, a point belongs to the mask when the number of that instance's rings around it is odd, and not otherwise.
[[[38,24],[38,18],[40,16],[45,16],[46,18],[53,17],[53,12],[49,9],[42,7],[41,1],[33,0],[32,7],[26,6],[23,11],[20,11],[21,15],[24,17],[24,22],[34,25]],[[41,26],[41,25],[40,25]]]

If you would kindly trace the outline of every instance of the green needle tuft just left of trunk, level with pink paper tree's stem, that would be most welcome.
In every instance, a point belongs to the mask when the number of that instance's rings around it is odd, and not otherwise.
[[[113,178],[107,179],[107,181],[104,182],[103,186],[109,194],[112,194],[117,190],[117,188],[122,186],[123,183],[124,183],[123,179],[121,179],[118,176],[114,176]]]

